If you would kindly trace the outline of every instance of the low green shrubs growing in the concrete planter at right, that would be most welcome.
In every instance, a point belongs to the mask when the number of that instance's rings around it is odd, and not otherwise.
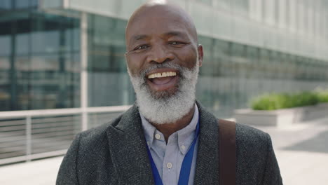
[[[310,106],[319,102],[328,102],[328,91],[295,94],[271,93],[254,98],[251,106],[254,110],[277,110]]]

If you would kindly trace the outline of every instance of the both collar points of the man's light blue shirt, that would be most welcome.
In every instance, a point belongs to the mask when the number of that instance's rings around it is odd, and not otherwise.
[[[146,138],[147,145],[149,148],[153,145],[153,139],[156,134],[156,132],[159,132],[156,130],[156,128],[149,123],[149,121],[140,114],[140,117],[142,119],[142,127],[144,128],[144,136]],[[198,123],[199,118],[199,111],[197,104],[195,104],[195,111],[193,112],[193,118],[191,119],[191,122],[186,125],[185,128],[182,128],[182,130],[178,130],[177,132],[174,132],[170,137],[174,137],[174,135],[177,135],[177,145],[179,146],[179,150],[186,154],[186,152],[189,149],[189,146],[193,142],[193,139],[196,137],[196,126]]]

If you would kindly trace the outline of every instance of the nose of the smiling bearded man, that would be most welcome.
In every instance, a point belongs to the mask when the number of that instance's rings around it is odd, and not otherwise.
[[[148,62],[163,63],[169,62],[174,59],[174,55],[171,50],[168,50],[163,44],[156,44],[150,50],[147,57]]]

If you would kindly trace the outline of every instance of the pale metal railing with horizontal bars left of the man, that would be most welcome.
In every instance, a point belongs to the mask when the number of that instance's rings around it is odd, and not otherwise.
[[[1,111],[0,165],[64,155],[76,133],[107,123],[129,107]]]

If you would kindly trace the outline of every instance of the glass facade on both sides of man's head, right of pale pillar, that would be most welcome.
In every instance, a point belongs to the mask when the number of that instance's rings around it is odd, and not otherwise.
[[[125,20],[88,15],[90,107],[135,101],[125,64]],[[328,80],[328,62],[199,36],[204,46],[197,98],[217,116],[232,116],[261,93],[313,90]]]

